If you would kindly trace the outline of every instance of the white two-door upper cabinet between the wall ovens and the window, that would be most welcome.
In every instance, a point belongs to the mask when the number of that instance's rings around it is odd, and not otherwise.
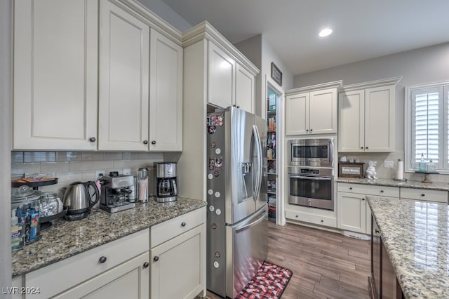
[[[395,90],[401,78],[343,86],[339,152],[394,152]]]

